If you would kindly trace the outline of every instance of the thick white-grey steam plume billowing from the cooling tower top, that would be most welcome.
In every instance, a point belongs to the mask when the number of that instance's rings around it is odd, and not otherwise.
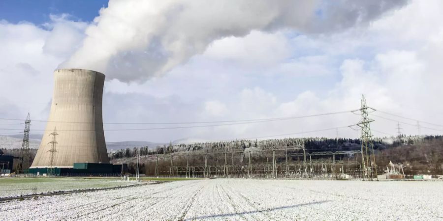
[[[86,29],[82,46],[60,68],[86,68],[107,79],[159,76],[214,40],[252,30],[325,33],[367,24],[406,0],[110,0]],[[260,47],[257,45],[257,47]]]

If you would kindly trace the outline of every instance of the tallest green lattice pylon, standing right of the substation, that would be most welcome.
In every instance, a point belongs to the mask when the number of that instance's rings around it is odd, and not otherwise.
[[[365,95],[361,96],[361,121],[357,123],[357,125],[361,128],[361,157],[362,157],[362,168],[363,168],[363,176],[368,180],[374,180],[374,172],[377,177],[377,164],[375,161],[374,155],[374,143],[372,142],[372,133],[370,123],[373,122],[373,119],[369,118],[368,112],[370,110],[374,110],[366,105]],[[371,152],[373,161],[371,161]],[[374,165],[373,165],[374,163]],[[373,169],[374,166],[374,169]]]

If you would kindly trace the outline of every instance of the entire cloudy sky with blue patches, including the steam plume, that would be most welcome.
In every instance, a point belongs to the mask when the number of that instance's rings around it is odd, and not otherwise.
[[[158,123],[105,124],[107,141],[356,138],[362,94],[376,137],[398,124],[438,135],[441,11],[440,0],[0,0],[0,118],[46,120],[54,70],[85,68],[106,75],[104,122]],[[219,126],[180,128],[197,125]],[[0,120],[0,135],[22,128]]]

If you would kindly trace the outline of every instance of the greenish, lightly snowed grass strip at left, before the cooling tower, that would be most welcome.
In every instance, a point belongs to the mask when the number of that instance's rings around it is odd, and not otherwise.
[[[68,191],[79,189],[106,188],[131,185],[120,179],[83,178],[0,178],[0,197]],[[1,205],[3,206],[3,205]],[[0,215],[1,216],[1,215]],[[0,219],[1,220],[1,219]]]

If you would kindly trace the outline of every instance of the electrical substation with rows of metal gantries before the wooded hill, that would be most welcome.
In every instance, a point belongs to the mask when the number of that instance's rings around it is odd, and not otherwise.
[[[202,151],[196,151],[202,152]],[[300,148],[177,152],[141,156],[147,176],[191,178],[370,179],[361,151],[303,153]],[[337,159],[336,159],[337,158]],[[360,160],[360,162],[358,161]]]

